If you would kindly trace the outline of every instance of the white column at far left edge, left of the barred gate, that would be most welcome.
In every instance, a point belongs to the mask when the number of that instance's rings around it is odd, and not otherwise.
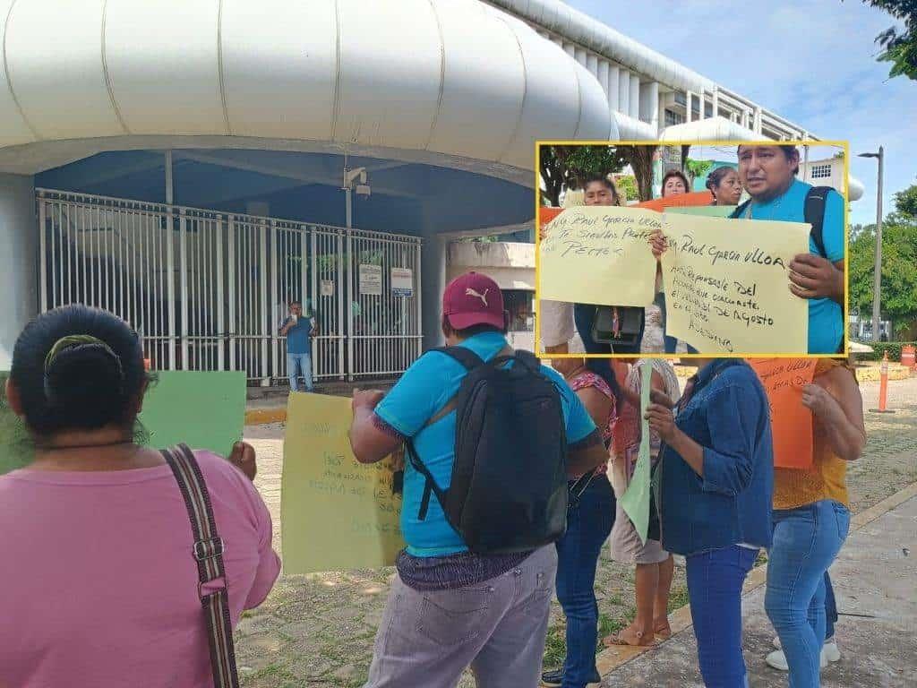
[[[0,174],[0,371],[10,369],[16,339],[39,310],[38,239],[34,179]]]

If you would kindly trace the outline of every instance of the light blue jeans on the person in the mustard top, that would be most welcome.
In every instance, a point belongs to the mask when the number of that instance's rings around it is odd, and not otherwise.
[[[790,688],[817,688],[825,633],[825,572],[850,528],[850,512],[831,499],[774,510],[764,607],[790,665]]]

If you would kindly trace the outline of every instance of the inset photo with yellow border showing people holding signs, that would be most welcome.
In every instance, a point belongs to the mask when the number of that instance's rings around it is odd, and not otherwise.
[[[539,354],[845,355],[848,157],[845,141],[539,142]]]

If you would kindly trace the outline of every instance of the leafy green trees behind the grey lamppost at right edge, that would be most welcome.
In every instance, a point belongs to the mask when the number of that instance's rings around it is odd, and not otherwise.
[[[917,320],[917,185],[895,194],[897,211],[882,223],[881,315],[899,331]],[[902,200],[903,199],[903,200]],[[850,231],[850,307],[872,312],[876,226],[852,227]]]

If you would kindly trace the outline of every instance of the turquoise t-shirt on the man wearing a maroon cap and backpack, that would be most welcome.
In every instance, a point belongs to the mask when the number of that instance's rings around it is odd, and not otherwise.
[[[498,332],[484,332],[468,338],[467,347],[484,361],[490,361],[506,346]],[[542,371],[558,383],[570,444],[589,437],[595,430],[585,406],[558,372],[542,366]],[[401,380],[376,406],[376,415],[403,437],[413,438],[414,447],[436,484],[446,489],[452,481],[455,460],[456,412],[443,416],[431,426],[427,421],[458,392],[465,368],[439,351],[428,351],[404,372]],[[424,494],[424,476],[407,461],[404,467],[404,492],[401,515],[402,535],[407,552],[414,557],[443,557],[468,551],[462,538],[448,524],[436,495],[430,498],[425,520],[417,518]]]

